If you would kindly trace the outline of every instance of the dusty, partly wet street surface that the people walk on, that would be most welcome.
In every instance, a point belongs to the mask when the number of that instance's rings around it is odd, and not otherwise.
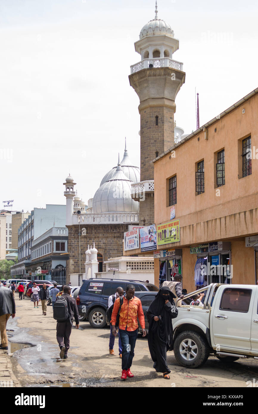
[[[109,355],[109,328],[94,329],[88,322],[82,322],[79,330],[73,327],[68,359],[60,360],[52,306],[48,306],[47,315],[43,316],[41,307],[34,309],[29,299],[19,301],[15,296],[15,301],[17,316],[8,321],[7,329],[14,330],[9,331],[13,335],[10,341],[29,344],[18,351],[12,349],[13,371],[23,387],[73,383],[81,387],[232,388],[246,387],[248,380],[258,378],[258,362],[251,359],[222,363],[212,356],[203,367],[189,369],[179,366],[174,353],[168,352],[171,380],[164,380],[152,368],[147,339],[139,335],[131,368],[135,377],[122,381],[118,339],[115,355]]]

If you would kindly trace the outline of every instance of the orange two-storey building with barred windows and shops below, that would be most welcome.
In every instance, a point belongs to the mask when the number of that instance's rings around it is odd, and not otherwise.
[[[152,162],[155,284],[256,284],[258,88]]]

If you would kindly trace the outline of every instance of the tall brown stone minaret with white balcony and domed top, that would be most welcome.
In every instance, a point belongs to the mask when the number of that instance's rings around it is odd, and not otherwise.
[[[140,200],[140,225],[154,223],[154,165],[152,160],[174,145],[176,95],[185,82],[183,63],[172,60],[179,41],[171,26],[155,18],[140,31],[135,51],[141,61],[131,66],[130,85],[140,105],[140,180],[132,185],[132,197]],[[138,191],[138,193],[137,193]],[[139,195],[140,191],[142,194]]]

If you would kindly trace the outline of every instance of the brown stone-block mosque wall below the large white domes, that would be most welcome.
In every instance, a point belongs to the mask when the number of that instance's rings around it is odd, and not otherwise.
[[[66,226],[68,228],[68,252],[70,260],[66,262],[67,283],[69,274],[80,273],[79,265],[79,225]],[[80,237],[81,241],[81,273],[85,272],[85,251],[95,242],[95,247],[103,256],[103,262],[109,258],[123,256],[123,236],[128,231],[128,224],[88,224],[81,225],[80,232],[85,229],[86,234]],[[103,265],[104,266],[104,265]],[[103,268],[104,270],[104,268]]]

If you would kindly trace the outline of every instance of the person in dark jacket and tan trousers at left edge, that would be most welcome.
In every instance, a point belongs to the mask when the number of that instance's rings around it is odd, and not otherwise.
[[[14,296],[10,289],[2,285],[0,282],[0,333],[1,344],[0,349],[8,349],[8,339],[6,335],[7,320],[12,315],[15,316]]]

